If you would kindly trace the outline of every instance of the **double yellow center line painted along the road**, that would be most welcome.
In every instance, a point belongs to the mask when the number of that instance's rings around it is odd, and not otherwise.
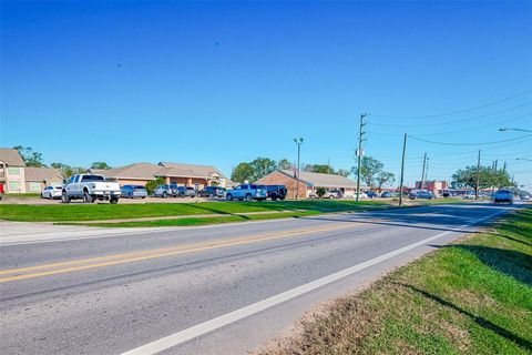
[[[79,258],[79,260],[20,267],[20,268],[2,270],[0,271],[0,283],[58,275],[58,274],[65,274],[65,273],[71,273],[76,271],[104,267],[104,266],[111,266],[111,265],[120,265],[125,263],[133,263],[133,262],[140,262],[140,261],[146,261],[152,258],[166,257],[166,256],[173,256],[173,255],[180,255],[180,254],[186,254],[186,253],[203,252],[203,251],[208,251],[208,250],[214,250],[219,247],[273,241],[273,240],[283,239],[283,237],[294,237],[294,236],[299,236],[304,234],[311,234],[311,233],[352,227],[359,224],[360,223],[346,222],[346,223],[338,223],[331,226],[329,225],[327,227],[321,227],[321,229],[293,230],[282,234],[272,234],[272,233],[255,234],[247,237],[244,236],[244,237],[235,237],[235,239],[225,239],[219,241],[187,244],[187,245],[173,245],[173,246],[147,250],[142,252],[113,254],[113,255],[106,255],[106,256]]]

